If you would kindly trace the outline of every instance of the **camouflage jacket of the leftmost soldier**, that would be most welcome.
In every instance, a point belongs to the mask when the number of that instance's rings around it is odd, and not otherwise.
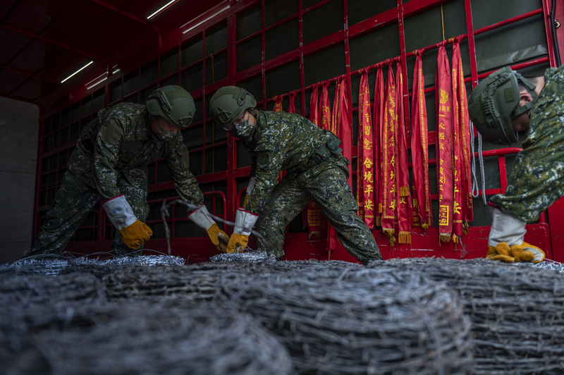
[[[78,155],[69,170],[85,183],[96,187],[102,201],[121,195],[116,172],[123,173],[131,185],[147,185],[147,166],[164,158],[178,195],[187,202],[203,204],[197,180],[188,169],[188,149],[182,135],[169,142],[153,140],[147,131],[147,108],[140,104],[120,103],[98,112],[78,140]]]

